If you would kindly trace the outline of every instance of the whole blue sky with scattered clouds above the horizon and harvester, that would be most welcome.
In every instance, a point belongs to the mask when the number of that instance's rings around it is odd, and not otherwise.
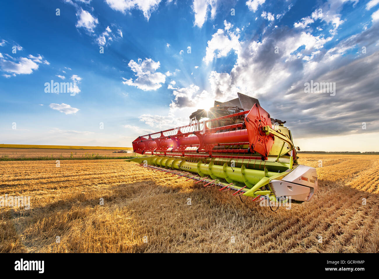
[[[379,0],[14,0],[0,24],[0,143],[127,147],[241,92],[302,150],[379,150]]]

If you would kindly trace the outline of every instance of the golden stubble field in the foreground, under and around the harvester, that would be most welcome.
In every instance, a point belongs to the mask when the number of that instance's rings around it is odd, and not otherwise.
[[[299,157],[319,191],[276,212],[124,160],[1,161],[0,196],[31,209],[0,209],[0,251],[378,252],[379,156]]]

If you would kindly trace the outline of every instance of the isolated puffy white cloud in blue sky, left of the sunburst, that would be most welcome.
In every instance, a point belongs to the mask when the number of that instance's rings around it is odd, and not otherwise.
[[[155,62],[151,58],[145,58],[144,61],[138,59],[138,63],[130,60],[128,66],[135,73],[136,79],[123,78],[124,84],[129,86],[136,86],[144,91],[157,90],[161,88],[161,83],[166,80],[166,75],[161,72],[156,72],[160,67],[160,62]]]

